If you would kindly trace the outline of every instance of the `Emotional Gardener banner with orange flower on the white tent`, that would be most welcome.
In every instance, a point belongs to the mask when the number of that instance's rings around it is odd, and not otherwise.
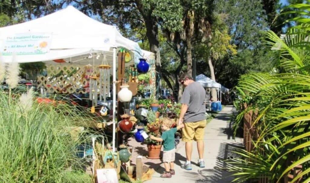
[[[7,36],[1,47],[2,55],[37,55],[50,50],[51,33],[23,33]]]

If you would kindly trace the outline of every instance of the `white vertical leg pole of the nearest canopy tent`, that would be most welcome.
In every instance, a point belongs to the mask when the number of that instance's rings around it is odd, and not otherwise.
[[[116,48],[113,48],[113,147],[115,152],[115,113],[116,113]]]

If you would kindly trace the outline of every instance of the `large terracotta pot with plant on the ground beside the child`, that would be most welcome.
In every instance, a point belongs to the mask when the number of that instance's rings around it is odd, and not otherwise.
[[[154,135],[155,137],[160,137],[160,134],[155,134],[154,132],[150,132],[149,134]],[[149,159],[159,159],[162,144],[151,138],[145,139],[144,142],[148,146],[148,155],[146,157]]]

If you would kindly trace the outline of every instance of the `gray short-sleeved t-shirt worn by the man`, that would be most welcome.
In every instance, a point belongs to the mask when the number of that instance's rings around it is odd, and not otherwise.
[[[180,102],[188,105],[184,115],[184,122],[196,122],[206,119],[205,96],[206,91],[200,83],[193,82],[185,87]]]

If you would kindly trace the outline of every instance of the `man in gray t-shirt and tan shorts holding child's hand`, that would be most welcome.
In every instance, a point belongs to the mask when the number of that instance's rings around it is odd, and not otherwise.
[[[197,142],[197,149],[199,154],[198,164],[200,168],[205,167],[203,160],[204,143],[203,136],[206,127],[206,106],[204,104],[206,91],[193,80],[191,76],[184,73],[179,79],[180,83],[185,86],[181,101],[181,113],[179,118],[179,125],[184,122],[182,129],[182,139],[185,142],[186,163],[181,167],[186,170],[192,170],[191,158],[193,150],[193,140]]]

